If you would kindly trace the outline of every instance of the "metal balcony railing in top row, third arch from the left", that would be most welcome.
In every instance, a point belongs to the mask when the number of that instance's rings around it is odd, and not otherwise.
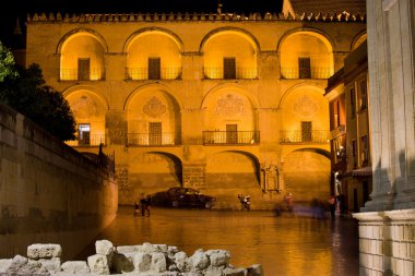
[[[235,72],[224,71],[224,68],[204,68],[205,79],[211,80],[253,80],[258,77],[257,68],[236,68]]]

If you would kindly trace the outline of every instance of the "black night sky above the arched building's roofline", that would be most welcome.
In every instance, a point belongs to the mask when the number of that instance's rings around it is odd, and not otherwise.
[[[0,40],[11,47],[11,36],[19,16],[22,27],[27,13],[144,13],[216,12],[218,0],[12,0],[1,9]],[[283,0],[221,0],[224,12],[281,12]]]

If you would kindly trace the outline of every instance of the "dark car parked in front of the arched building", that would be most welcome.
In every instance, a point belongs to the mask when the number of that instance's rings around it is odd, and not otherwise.
[[[152,194],[152,205],[164,207],[198,207],[210,209],[216,197],[200,193],[192,188],[174,187]]]

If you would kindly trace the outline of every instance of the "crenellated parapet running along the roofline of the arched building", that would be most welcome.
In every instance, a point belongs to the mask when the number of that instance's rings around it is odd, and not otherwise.
[[[284,13],[249,13],[249,15],[236,13],[85,13],[85,14],[68,14],[63,16],[61,13],[34,13],[27,14],[27,22],[187,22],[187,21],[319,21],[319,22],[366,22],[366,14],[351,13],[303,13],[303,14]]]

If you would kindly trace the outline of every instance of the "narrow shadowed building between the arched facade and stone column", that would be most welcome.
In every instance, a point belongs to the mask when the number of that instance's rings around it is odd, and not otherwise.
[[[356,213],[371,192],[366,41],[353,49],[328,82],[324,97],[330,103],[332,191],[342,213]]]

